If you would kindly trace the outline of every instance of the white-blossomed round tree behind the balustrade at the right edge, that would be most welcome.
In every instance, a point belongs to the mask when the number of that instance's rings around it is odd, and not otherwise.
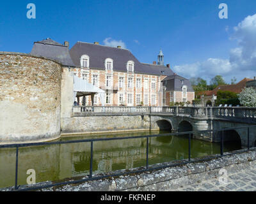
[[[256,90],[253,87],[244,88],[238,99],[243,106],[256,107]]]

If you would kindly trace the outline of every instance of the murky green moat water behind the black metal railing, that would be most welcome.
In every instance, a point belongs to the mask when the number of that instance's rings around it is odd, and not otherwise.
[[[160,134],[167,133],[161,131]],[[66,136],[61,141],[84,138],[156,135],[159,132],[130,132],[108,135]],[[145,166],[147,139],[113,140],[93,143],[93,174]],[[236,143],[224,151],[240,149]],[[191,140],[191,157],[220,153],[220,144]],[[188,159],[188,137],[149,138],[149,164]],[[88,175],[90,143],[70,143],[19,149],[18,184],[26,184],[27,171],[36,171],[36,182],[62,180]],[[0,149],[0,187],[15,184],[15,149]]]

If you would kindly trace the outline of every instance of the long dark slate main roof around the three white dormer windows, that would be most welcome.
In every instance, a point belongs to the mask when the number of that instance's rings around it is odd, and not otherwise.
[[[105,60],[111,58],[113,59],[114,71],[126,72],[127,62],[134,61],[134,73],[166,76],[173,75],[173,71],[165,66],[140,63],[129,50],[124,48],[108,47],[78,41],[76,45],[70,49],[72,61],[78,67],[81,66],[80,57],[82,55],[88,55],[90,57],[90,68],[92,69],[105,70]],[[164,71],[164,74],[162,71]]]

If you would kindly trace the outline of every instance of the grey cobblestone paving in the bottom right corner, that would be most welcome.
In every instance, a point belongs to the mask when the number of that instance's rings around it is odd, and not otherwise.
[[[214,178],[198,180],[196,184],[180,186],[169,191],[256,191],[256,170],[230,173],[226,184],[220,182],[219,178]]]

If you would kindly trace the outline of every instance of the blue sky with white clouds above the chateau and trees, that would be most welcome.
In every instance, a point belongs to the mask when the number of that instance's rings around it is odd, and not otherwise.
[[[28,3],[36,5],[36,19],[26,17]],[[218,17],[220,3],[228,5],[228,19]],[[140,62],[156,61],[162,48],[165,63],[187,78],[239,81],[256,76],[255,14],[255,0],[2,1],[0,50],[28,53],[45,38],[71,47],[117,41]]]

